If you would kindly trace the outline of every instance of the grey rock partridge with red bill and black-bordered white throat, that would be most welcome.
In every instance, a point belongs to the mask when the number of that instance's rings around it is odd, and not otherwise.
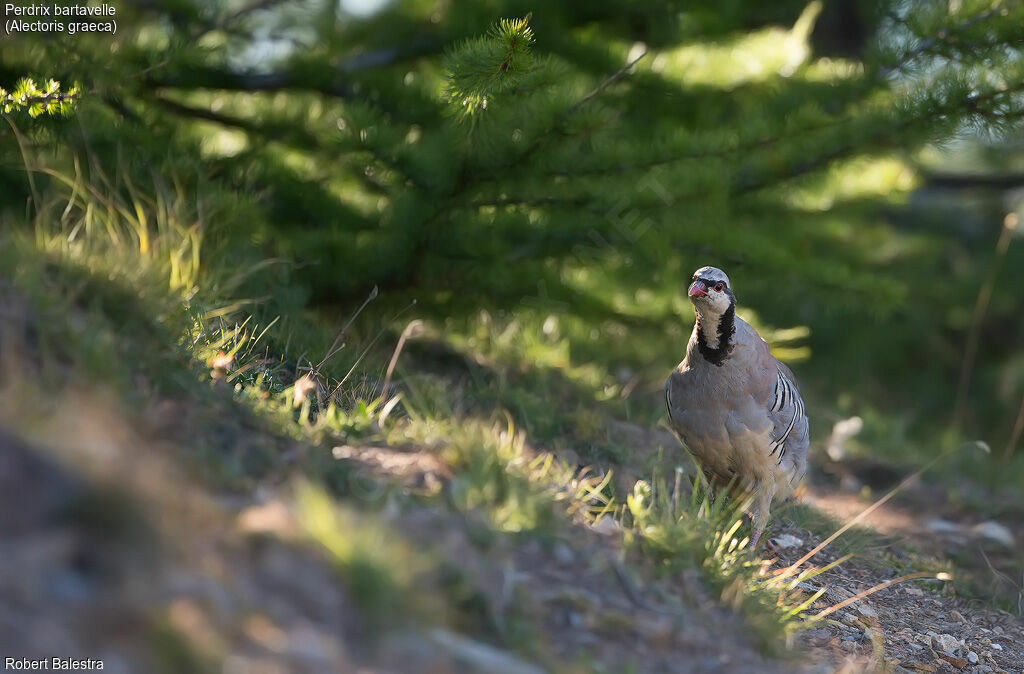
[[[788,496],[807,470],[804,401],[790,368],[736,315],[724,271],[697,269],[687,294],[696,323],[665,383],[669,423],[712,487],[735,483],[753,495],[753,550],[772,500]]]

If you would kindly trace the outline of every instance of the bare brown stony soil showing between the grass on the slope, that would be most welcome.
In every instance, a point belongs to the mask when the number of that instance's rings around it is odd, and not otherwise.
[[[894,584],[765,655],[696,572],[665,579],[623,563],[613,530],[481,544],[477,523],[408,503],[380,516],[438,560],[425,594],[476,608],[385,617],[381,631],[301,541],[281,475],[250,494],[220,492],[182,467],[160,424],[132,427],[86,396],[56,409],[59,422],[32,441],[0,433],[4,655],[100,658],[114,672],[1024,672],[1024,624],[939,582]],[[340,448],[335,459],[412,489],[450,478],[415,448]],[[843,517],[864,505],[827,485],[806,499]],[[909,544],[935,514],[910,508],[869,522],[891,537],[892,563],[854,558],[805,582],[809,593],[825,588],[815,610],[899,576],[893,537]],[[773,535],[799,540],[774,567],[817,543],[784,516]],[[913,542],[930,538],[937,545]],[[826,547],[812,562],[839,555]]]

